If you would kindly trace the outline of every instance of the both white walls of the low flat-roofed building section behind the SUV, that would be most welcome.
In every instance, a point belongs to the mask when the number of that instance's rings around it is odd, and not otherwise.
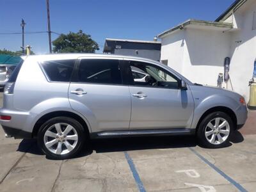
[[[184,29],[162,38],[161,60],[192,82],[216,86],[229,44],[230,35],[222,31]]]

